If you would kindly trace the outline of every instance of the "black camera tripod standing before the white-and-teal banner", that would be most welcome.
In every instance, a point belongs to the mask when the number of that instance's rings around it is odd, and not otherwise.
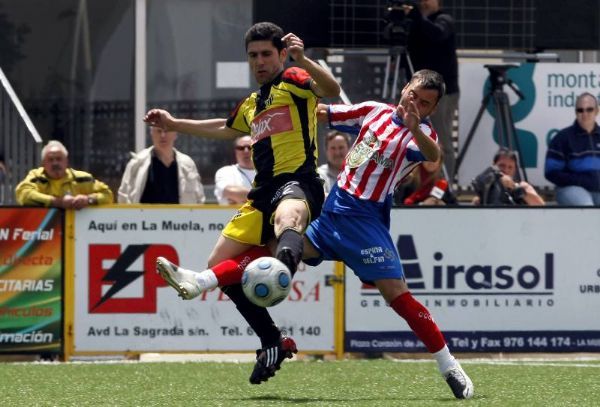
[[[454,167],[454,178],[458,174],[458,169],[465,158],[465,154],[469,149],[469,145],[473,139],[473,135],[477,130],[477,126],[479,126],[479,122],[481,121],[481,117],[483,116],[483,112],[488,106],[488,103],[493,100],[494,108],[496,111],[496,128],[498,130],[498,144],[501,147],[508,148],[511,151],[516,151],[519,166],[517,168],[517,176],[518,180],[527,181],[527,173],[525,172],[525,164],[521,158],[521,146],[519,144],[519,138],[517,137],[517,131],[515,129],[515,122],[512,118],[512,113],[510,110],[510,103],[508,102],[508,95],[504,92],[504,85],[508,85],[513,92],[519,97],[519,99],[525,99],[525,96],[517,87],[514,85],[513,81],[510,80],[506,76],[506,71],[510,68],[514,68],[518,65],[506,64],[506,65],[484,65],[490,71],[490,91],[483,97],[481,101],[481,106],[479,107],[479,111],[477,112],[477,116],[473,121],[473,125],[469,130],[467,135],[467,139],[465,140],[465,145],[463,146],[460,154],[456,159],[456,165]]]

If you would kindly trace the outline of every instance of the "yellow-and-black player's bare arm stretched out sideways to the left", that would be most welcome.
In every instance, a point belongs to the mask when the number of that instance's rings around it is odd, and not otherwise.
[[[144,116],[150,126],[160,127],[168,131],[191,134],[210,138],[235,138],[241,132],[226,126],[226,119],[191,120],[177,119],[166,110],[151,109]]]

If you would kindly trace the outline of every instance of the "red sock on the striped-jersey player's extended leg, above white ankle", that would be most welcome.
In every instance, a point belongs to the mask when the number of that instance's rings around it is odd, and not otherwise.
[[[444,336],[427,308],[410,292],[399,295],[390,305],[398,315],[406,320],[408,326],[425,344],[430,353],[435,353],[446,345]]]

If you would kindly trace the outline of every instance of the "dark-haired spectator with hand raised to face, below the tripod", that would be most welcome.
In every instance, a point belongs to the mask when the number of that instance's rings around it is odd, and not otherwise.
[[[494,155],[493,165],[473,180],[477,196],[474,205],[545,205],[534,187],[525,181],[515,180],[517,155],[500,148]]]

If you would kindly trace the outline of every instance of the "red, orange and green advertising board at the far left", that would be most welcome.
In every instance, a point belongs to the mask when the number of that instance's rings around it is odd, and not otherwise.
[[[63,212],[0,208],[0,353],[62,349]]]

